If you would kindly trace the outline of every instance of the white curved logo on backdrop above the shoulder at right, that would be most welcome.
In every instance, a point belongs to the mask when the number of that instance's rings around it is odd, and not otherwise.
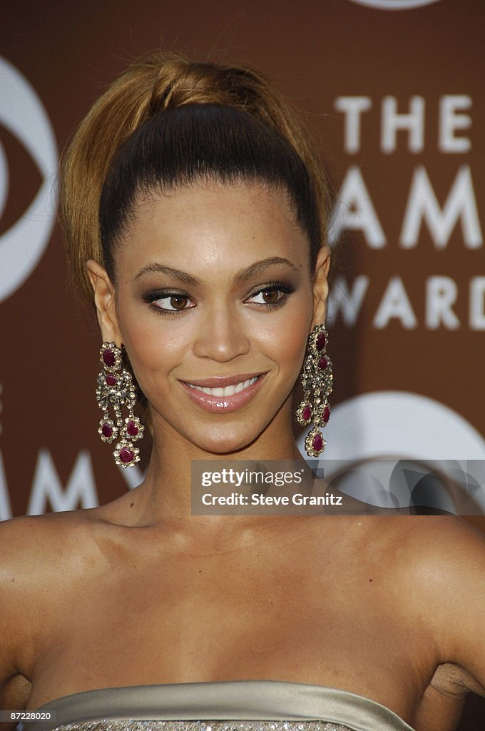
[[[302,455],[305,434],[298,442]],[[367,501],[381,507],[424,500],[459,515],[485,514],[485,439],[440,401],[404,391],[363,393],[333,406],[325,439],[320,458],[325,477],[343,471],[339,489],[356,499],[367,489]],[[367,461],[367,467],[354,469]],[[462,483],[463,495],[473,497],[481,512],[470,504],[465,512],[453,510],[443,485],[416,469],[416,463]]]

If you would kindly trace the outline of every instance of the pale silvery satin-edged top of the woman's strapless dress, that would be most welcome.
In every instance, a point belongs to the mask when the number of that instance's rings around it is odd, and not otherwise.
[[[85,691],[37,708],[24,731],[413,731],[378,702],[280,681],[169,683]]]

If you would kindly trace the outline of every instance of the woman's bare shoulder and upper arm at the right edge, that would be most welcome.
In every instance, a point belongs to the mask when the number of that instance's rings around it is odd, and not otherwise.
[[[407,518],[394,539],[402,596],[435,637],[437,689],[485,695],[485,534],[460,518],[432,516]]]

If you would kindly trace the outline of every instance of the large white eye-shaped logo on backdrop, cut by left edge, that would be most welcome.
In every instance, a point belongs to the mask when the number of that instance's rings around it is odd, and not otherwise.
[[[0,236],[0,302],[30,276],[42,257],[56,216],[58,152],[49,118],[34,88],[0,57],[0,124],[31,155],[42,184],[23,216]],[[0,143],[0,216],[7,202],[9,169]]]

